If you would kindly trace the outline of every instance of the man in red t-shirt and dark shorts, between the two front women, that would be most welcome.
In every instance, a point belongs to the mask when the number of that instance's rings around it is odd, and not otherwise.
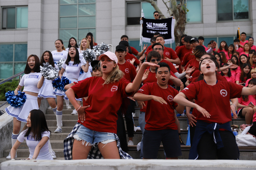
[[[134,95],[136,100],[148,101],[143,134],[143,159],[156,159],[161,142],[167,159],[177,159],[181,155],[181,147],[174,108],[182,113],[184,106],[173,102],[178,91],[167,84],[170,67],[166,63],[158,65],[160,67],[155,70],[157,82],[144,84]]]

